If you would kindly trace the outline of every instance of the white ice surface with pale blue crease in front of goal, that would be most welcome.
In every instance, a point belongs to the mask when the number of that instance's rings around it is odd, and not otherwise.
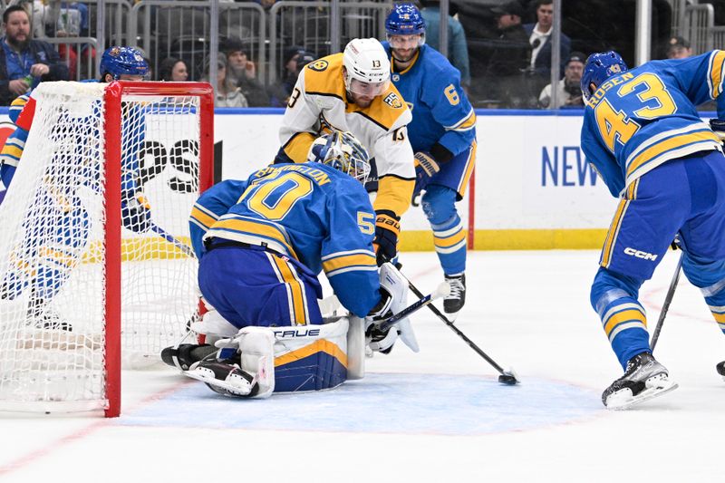
[[[230,400],[166,368],[123,373],[122,416],[0,414],[0,481],[720,481],[725,338],[681,278],[655,355],[677,391],[633,411],[600,396],[621,375],[589,306],[595,251],[477,252],[459,328],[430,311],[420,353],[396,345],[334,391]],[[676,256],[643,286],[650,329]],[[424,293],[433,253],[403,254]],[[412,295],[411,295],[412,300]]]

